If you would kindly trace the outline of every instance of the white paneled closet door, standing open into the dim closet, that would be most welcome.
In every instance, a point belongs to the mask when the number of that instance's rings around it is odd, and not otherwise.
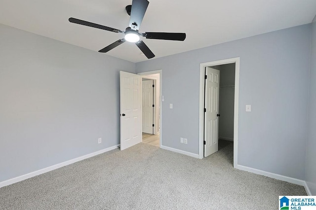
[[[206,67],[204,114],[204,157],[218,151],[219,70]]]

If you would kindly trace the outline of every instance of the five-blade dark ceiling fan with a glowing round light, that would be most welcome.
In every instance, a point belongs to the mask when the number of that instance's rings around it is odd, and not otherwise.
[[[129,27],[125,30],[118,30],[107,26],[102,26],[95,23],[90,23],[87,21],[79,20],[76,18],[69,18],[69,22],[80,24],[83,26],[89,26],[102,30],[109,30],[115,33],[124,33],[124,38],[118,39],[118,41],[110,44],[109,46],[99,50],[100,53],[106,53],[118,45],[124,43],[125,41],[134,42],[137,47],[144,53],[148,58],[154,58],[154,53],[147,47],[147,45],[140,40],[140,36],[146,37],[147,39],[164,39],[164,40],[176,40],[184,41],[186,38],[185,33],[169,33],[169,32],[145,32],[139,33],[138,29],[143,21],[146,9],[148,7],[148,0],[132,0],[132,5],[127,5],[125,7],[126,12],[130,15]]]

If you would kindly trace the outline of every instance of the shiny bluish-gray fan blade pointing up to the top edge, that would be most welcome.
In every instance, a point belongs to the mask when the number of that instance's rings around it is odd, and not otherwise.
[[[148,7],[149,1],[148,0],[133,0],[132,1],[132,9],[130,11],[130,18],[129,18],[129,27],[133,30],[138,30],[146,9]],[[136,26],[133,26],[134,23],[136,24]]]

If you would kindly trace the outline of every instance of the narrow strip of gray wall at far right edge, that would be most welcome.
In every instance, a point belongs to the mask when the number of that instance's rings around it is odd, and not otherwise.
[[[312,195],[316,195],[316,17],[312,23],[310,102],[306,153],[306,182]]]

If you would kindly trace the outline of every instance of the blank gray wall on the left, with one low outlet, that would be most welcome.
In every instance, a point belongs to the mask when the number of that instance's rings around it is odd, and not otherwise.
[[[118,145],[119,70],[135,63],[0,25],[0,181]]]

